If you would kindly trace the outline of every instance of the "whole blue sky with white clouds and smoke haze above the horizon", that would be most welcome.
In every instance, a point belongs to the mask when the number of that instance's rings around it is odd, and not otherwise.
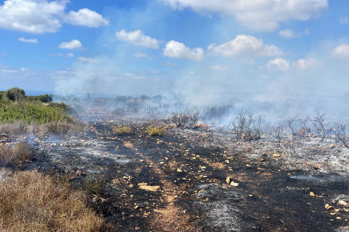
[[[1,89],[157,95],[349,91],[349,2],[0,1]]]

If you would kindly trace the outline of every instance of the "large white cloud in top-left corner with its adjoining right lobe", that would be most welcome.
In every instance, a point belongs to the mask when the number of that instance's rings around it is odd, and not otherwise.
[[[62,23],[99,27],[109,21],[89,9],[65,12],[68,0],[7,0],[0,5],[0,28],[33,34],[57,32]],[[1,4],[1,3],[0,3]]]

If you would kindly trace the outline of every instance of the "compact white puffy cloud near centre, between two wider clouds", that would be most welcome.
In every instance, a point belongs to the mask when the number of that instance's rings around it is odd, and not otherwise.
[[[163,55],[183,60],[202,61],[205,57],[205,51],[201,47],[190,49],[184,43],[171,40],[163,48]]]

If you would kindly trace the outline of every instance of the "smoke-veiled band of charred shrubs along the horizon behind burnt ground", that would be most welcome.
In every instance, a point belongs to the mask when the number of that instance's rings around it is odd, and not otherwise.
[[[164,123],[182,129],[198,129],[211,125],[225,128],[237,139],[257,140],[269,135],[280,145],[284,137],[301,140],[313,133],[348,146],[349,95],[293,96],[279,101],[263,101],[257,95],[235,93],[224,104],[192,104],[190,96],[172,91],[166,96],[116,96],[92,98],[89,93],[57,96],[53,99],[72,106],[77,117],[94,120],[91,110],[100,110],[115,118],[143,118],[164,120]],[[89,118],[90,117],[90,118]]]

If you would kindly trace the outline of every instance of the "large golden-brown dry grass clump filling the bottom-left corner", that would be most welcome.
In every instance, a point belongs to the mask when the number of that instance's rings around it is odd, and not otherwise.
[[[102,217],[67,182],[37,171],[0,181],[1,231],[101,231]]]

